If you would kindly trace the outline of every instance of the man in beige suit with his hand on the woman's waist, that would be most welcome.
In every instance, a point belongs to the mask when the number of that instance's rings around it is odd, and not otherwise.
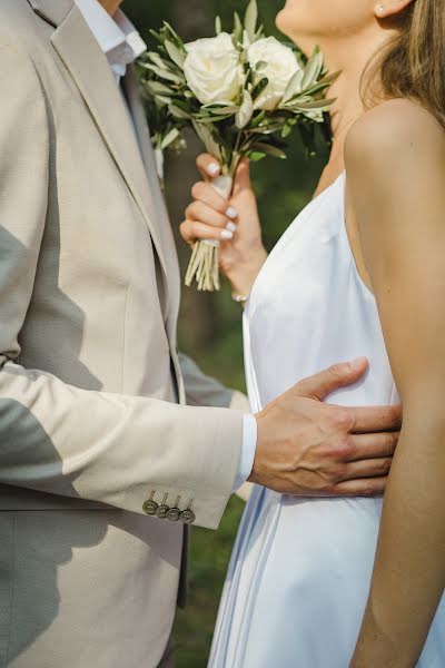
[[[140,38],[120,16],[106,49],[87,10],[0,0],[0,667],[155,668],[187,524],[216,528],[250,470],[375,493],[396,440],[350,434],[390,431],[394,411],[317,401],[363,362],[253,418],[178,355],[174,240],[126,73]],[[342,464],[354,439],[363,482]]]

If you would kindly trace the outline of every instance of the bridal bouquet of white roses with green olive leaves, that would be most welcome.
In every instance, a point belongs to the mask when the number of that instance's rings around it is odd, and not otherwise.
[[[286,158],[285,139],[295,128],[313,151],[316,124],[334,101],[325,91],[336,75],[326,73],[318,49],[306,60],[266,37],[256,0],[250,0],[244,22],[235,13],[230,33],[222,31],[218,17],[212,38],[184,43],[166,22],[151,35],[156,50],[139,65],[160,174],[162,151],[184,144],[188,127],[221,164],[222,176],[212,185],[225,197],[244,156]],[[195,281],[198,289],[219,289],[218,242],[195,244],[186,285]]]

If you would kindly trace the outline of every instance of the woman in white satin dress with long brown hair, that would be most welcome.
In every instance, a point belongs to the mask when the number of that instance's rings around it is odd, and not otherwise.
[[[445,2],[288,0],[278,26],[307,52],[319,43],[343,73],[329,92],[338,98],[334,147],[317,195],[264,264],[247,164],[230,203],[238,229],[222,268],[249,294],[253,412],[365,355],[367,375],[328,401],[398,402],[396,377],[404,428],[374,577],[382,499],[301,499],[255,485],[209,666],[444,668]]]

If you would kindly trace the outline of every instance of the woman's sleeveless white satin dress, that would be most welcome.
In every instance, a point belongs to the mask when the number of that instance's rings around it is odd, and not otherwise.
[[[255,412],[300,379],[363,355],[366,376],[329,402],[398,402],[376,302],[349,247],[344,196],[345,174],[296,218],[254,286],[245,358]],[[380,511],[380,499],[296,499],[256,487],[234,548],[210,668],[347,668]],[[418,668],[445,668],[444,601]]]

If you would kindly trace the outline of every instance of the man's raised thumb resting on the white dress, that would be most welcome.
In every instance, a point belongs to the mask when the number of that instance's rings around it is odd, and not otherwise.
[[[329,366],[329,369],[320,373],[304,379],[295,385],[294,390],[298,396],[323,401],[335,390],[358,381],[367,367],[368,361],[366,357],[359,357],[353,362],[334,364],[334,366]]]

